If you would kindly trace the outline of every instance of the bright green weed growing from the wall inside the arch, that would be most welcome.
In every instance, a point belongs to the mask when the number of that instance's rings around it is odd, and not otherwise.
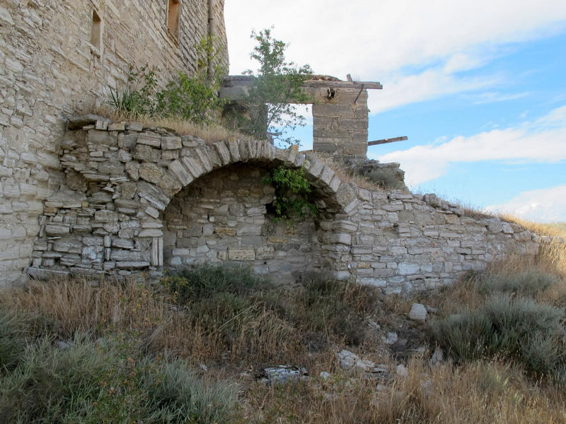
[[[294,220],[316,216],[318,207],[311,199],[312,184],[306,179],[303,168],[277,167],[263,182],[275,188],[273,212],[275,221]]]

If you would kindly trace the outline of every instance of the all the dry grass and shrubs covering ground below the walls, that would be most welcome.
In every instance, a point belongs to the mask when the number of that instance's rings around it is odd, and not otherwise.
[[[0,413],[14,423],[562,423],[565,255],[510,257],[414,298],[321,276],[283,288],[212,265],[160,286],[30,283],[0,295]],[[406,318],[415,300],[437,308],[430,324]],[[383,345],[388,331],[398,343]],[[437,345],[447,360],[432,365]],[[343,348],[392,372],[352,376],[335,360]],[[278,364],[310,377],[258,382]]]

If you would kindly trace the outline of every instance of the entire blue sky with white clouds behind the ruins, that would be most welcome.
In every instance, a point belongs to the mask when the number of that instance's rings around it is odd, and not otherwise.
[[[409,140],[368,156],[399,162],[413,191],[566,221],[566,1],[228,0],[231,73],[270,25],[316,73],[383,83],[369,140]],[[311,148],[311,126],[296,134]]]

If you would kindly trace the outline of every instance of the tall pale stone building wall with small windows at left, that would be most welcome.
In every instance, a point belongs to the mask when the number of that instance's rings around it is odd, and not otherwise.
[[[227,64],[224,0],[212,6]],[[195,43],[208,33],[208,2],[180,1],[176,37],[167,12],[168,1],[1,2],[0,286],[30,263],[43,201],[62,184],[67,117],[102,105],[109,87],[125,86],[130,66],[154,67],[161,83],[178,70],[195,70]],[[93,17],[100,18],[100,37]]]

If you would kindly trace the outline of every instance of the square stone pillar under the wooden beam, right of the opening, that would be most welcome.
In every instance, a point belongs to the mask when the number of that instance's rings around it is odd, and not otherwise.
[[[313,104],[313,151],[365,159],[368,112],[367,90],[319,89]]]

